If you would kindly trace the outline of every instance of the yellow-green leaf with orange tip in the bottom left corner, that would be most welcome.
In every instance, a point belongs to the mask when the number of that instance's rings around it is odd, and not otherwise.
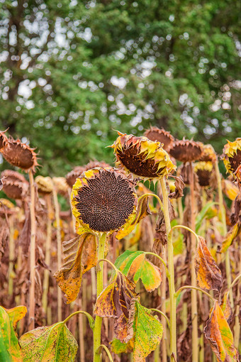
[[[21,362],[23,361],[18,339],[13,325],[24,317],[27,308],[19,306],[11,309],[0,307],[0,361]]]

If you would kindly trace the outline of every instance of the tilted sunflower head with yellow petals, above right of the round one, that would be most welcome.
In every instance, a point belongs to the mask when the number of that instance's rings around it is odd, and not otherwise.
[[[143,180],[153,180],[176,169],[159,142],[132,134],[118,134],[119,137],[111,147],[116,154],[116,165],[120,165],[126,172]]]

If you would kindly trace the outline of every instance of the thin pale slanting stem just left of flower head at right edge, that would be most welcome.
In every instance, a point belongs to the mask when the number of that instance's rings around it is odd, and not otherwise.
[[[215,175],[217,177],[217,183],[218,183],[218,202],[219,202],[219,208],[220,208],[222,224],[223,224],[223,235],[225,236],[227,234],[226,212],[225,212],[225,206],[223,204],[222,182],[221,182],[220,171],[218,168],[218,159],[215,160]],[[226,269],[227,284],[228,284],[228,287],[230,287],[230,285],[232,283],[232,275],[231,275],[229,251],[227,251],[226,255],[225,255],[225,269]],[[234,307],[232,290],[230,290],[230,305],[232,308]]]

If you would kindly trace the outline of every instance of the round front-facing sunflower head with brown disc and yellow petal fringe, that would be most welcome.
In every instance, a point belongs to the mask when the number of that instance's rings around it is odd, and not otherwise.
[[[133,219],[138,198],[133,184],[115,168],[93,168],[77,178],[72,190],[77,233],[111,233]]]

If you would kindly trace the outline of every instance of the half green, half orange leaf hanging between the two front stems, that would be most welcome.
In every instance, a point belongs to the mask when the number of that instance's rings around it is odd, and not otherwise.
[[[152,292],[162,282],[161,270],[146,258],[144,251],[127,250],[116,259],[115,265],[135,284],[141,279],[147,292]]]

